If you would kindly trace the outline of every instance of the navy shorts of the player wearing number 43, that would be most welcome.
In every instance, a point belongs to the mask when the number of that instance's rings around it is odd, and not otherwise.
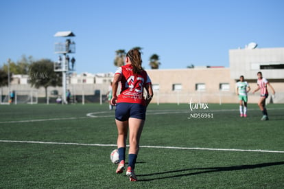
[[[124,122],[129,118],[145,120],[146,107],[137,103],[120,102],[115,108],[115,119]]]

